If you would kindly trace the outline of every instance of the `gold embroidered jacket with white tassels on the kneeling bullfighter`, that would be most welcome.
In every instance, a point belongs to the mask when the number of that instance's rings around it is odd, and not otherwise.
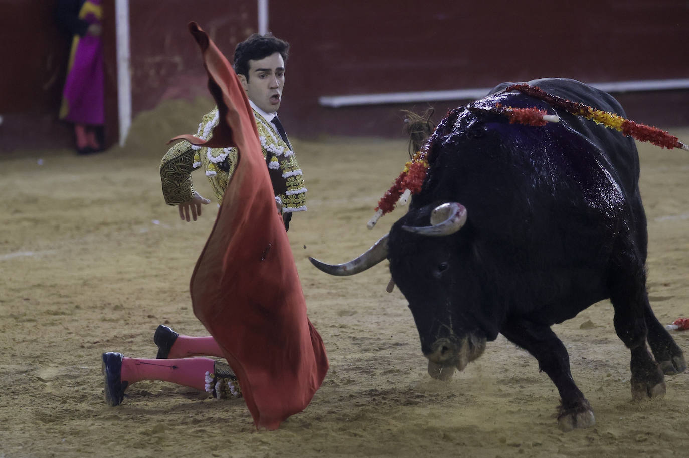
[[[276,197],[282,200],[282,211],[285,213],[305,211],[307,189],[294,152],[274,132],[263,116],[254,111],[254,118],[273,190]],[[213,127],[217,124],[218,109],[214,108],[203,116],[196,136],[208,140],[212,136]],[[192,200],[194,196],[192,171],[200,167],[205,170],[220,203],[236,164],[236,148],[198,147],[185,140],[176,143],[161,161],[161,181],[165,203],[178,205]]]

